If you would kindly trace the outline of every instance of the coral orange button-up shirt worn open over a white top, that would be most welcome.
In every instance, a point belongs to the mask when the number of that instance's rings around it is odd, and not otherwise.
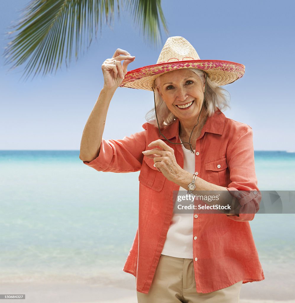
[[[165,178],[154,167],[154,160],[142,154],[153,148],[147,147],[150,142],[164,140],[154,125],[144,123],[142,126],[144,131],[130,137],[103,139],[98,157],[83,162],[97,171],[140,171],[138,229],[123,271],[136,277],[137,291],[147,294],[173,215],[173,191],[178,191],[180,186]],[[161,130],[171,142],[181,143],[178,131],[178,119]],[[177,163],[183,168],[181,146],[164,142],[174,149]],[[229,191],[258,190],[252,128],[226,118],[219,109],[207,118],[196,141],[195,157],[195,170],[205,181]],[[243,283],[264,280],[249,224],[259,209],[258,202],[254,194],[249,193],[240,197],[239,203],[256,209],[253,213],[192,214],[193,236],[197,236],[193,240],[197,292],[216,291],[241,280]]]

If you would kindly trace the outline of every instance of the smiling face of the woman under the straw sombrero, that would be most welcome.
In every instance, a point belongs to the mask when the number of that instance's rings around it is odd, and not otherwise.
[[[205,83],[194,72],[181,68],[156,80],[157,91],[168,109],[184,124],[195,124],[204,100]]]

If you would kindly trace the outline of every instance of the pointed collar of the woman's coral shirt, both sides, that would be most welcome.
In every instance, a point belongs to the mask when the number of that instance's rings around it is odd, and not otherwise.
[[[225,115],[219,108],[214,112],[211,117],[207,118],[205,125],[203,126],[202,133],[209,132],[213,134],[222,135],[224,129]],[[171,125],[161,129],[161,133],[168,139],[178,137],[179,135],[179,119],[177,118]],[[164,137],[160,135],[158,130],[158,136],[160,139]]]

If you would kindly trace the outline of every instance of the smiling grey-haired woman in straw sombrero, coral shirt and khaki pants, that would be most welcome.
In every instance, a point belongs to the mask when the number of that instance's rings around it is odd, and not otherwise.
[[[134,60],[117,49],[102,65],[104,87],[85,125],[80,159],[98,170],[140,171],[138,229],[123,271],[136,278],[138,302],[239,301],[242,283],[264,273],[249,221],[259,209],[250,126],[228,119],[226,85],[244,65],[200,60],[182,37],[167,39],[157,64],[127,73]],[[121,65],[121,61],[123,65]],[[118,86],[154,91],[144,131],[102,138]],[[178,213],[174,192],[222,191],[235,213]]]

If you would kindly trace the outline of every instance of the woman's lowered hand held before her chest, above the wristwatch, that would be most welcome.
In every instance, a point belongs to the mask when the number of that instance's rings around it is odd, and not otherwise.
[[[142,153],[147,158],[154,159],[154,167],[156,167],[158,171],[161,171],[169,181],[174,181],[182,170],[177,164],[174,149],[161,139],[153,141],[147,146],[160,146],[162,148],[153,148],[148,151],[143,151]]]

